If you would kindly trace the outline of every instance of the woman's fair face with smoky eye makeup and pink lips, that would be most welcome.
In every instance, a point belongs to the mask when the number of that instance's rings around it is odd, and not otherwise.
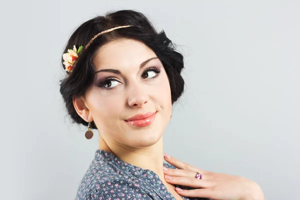
[[[171,115],[170,86],[156,54],[142,42],[122,38],[102,45],[92,61],[97,73],[84,99],[105,142],[156,143]]]

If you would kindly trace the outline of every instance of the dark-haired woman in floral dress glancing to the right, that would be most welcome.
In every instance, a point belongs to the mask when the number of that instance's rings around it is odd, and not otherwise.
[[[183,57],[133,10],[82,23],[62,59],[60,93],[99,147],[75,199],[264,199],[251,180],[203,171],[167,154],[162,134],[183,91]]]

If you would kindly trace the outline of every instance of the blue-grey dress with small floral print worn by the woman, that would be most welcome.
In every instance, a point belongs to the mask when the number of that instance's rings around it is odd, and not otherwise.
[[[163,163],[165,167],[175,168]],[[186,188],[176,185],[180,188]],[[188,189],[188,188],[187,188]],[[205,199],[182,196],[184,200]],[[171,199],[172,194],[158,175],[119,159],[113,153],[97,149],[95,157],[78,186],[75,200]]]

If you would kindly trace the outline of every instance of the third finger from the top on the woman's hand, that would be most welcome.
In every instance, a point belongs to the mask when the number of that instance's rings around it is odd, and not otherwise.
[[[208,180],[197,179],[194,177],[164,175],[164,179],[170,184],[178,184],[194,188],[207,188],[212,186],[211,182]]]

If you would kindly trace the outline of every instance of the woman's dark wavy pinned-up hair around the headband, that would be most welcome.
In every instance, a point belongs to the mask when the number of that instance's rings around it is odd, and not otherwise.
[[[94,35],[103,30],[122,25],[133,26],[115,29],[99,35],[86,49],[81,51],[80,56],[74,63],[73,71],[67,72],[65,78],[60,80],[60,93],[69,115],[76,123],[87,125],[87,122],[77,114],[72,99],[73,97],[83,96],[86,89],[93,82],[95,67],[92,63],[92,57],[94,53],[104,43],[115,39],[135,39],[143,42],[155,52],[168,76],[172,103],[183,92],[184,80],[180,75],[183,68],[182,54],[175,51],[175,44],[166,37],[163,30],[157,33],[146,16],[134,10],[108,12],[103,16],[96,16],[85,21],[72,33],[63,53],[69,48],[72,49],[73,45],[76,45],[77,48],[80,45],[85,46]],[[61,59],[61,64],[62,62],[63,59]],[[65,66],[62,64],[62,67],[64,68]],[[94,122],[91,122],[91,127],[96,128]]]

